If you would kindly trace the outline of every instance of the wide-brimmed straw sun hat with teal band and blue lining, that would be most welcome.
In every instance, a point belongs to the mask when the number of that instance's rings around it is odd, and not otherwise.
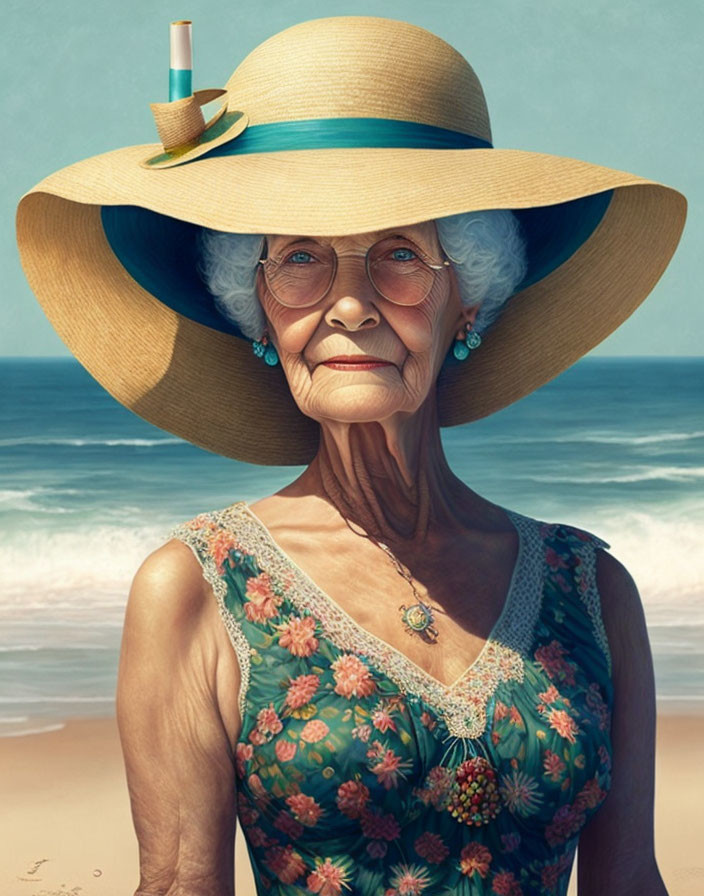
[[[295,25],[226,90],[232,139],[152,170],[153,144],[86,159],[34,187],[17,215],[30,285],[75,357],[140,417],[221,455],[307,463],[319,427],[281,366],[217,312],[197,273],[200,227],[342,236],[512,209],[528,273],[480,349],[443,366],[441,426],[509,405],[600,343],[680,238],[686,201],[670,187],[493,148],[468,62],[405,22]]]

